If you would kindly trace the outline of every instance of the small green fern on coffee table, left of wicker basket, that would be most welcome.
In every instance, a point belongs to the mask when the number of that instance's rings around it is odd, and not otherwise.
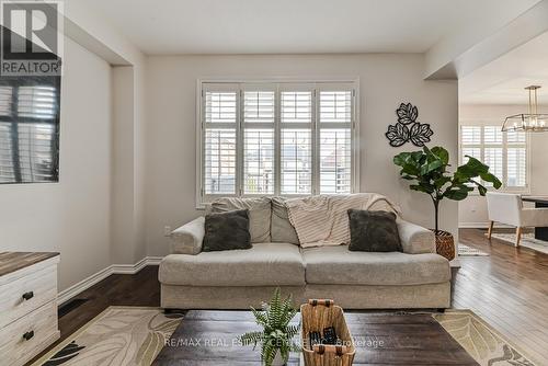
[[[261,344],[261,361],[265,366],[281,366],[287,363],[289,352],[300,352],[300,347],[293,342],[299,332],[299,325],[292,325],[289,322],[297,313],[293,307],[293,299],[289,295],[282,299],[279,287],[274,290],[271,301],[263,307],[263,310],[251,308],[255,321],[263,327],[262,331],[249,332],[240,336],[243,345]]]

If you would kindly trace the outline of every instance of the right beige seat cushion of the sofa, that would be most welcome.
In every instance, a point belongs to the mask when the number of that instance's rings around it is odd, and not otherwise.
[[[450,279],[449,262],[437,254],[351,252],[347,245],[302,250],[307,284],[424,285]]]

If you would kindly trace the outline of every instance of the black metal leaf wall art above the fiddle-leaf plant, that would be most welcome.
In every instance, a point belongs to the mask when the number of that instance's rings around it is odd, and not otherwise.
[[[401,103],[396,110],[398,123],[389,125],[385,134],[390,141],[390,146],[399,147],[406,142],[412,142],[414,146],[423,147],[430,142],[430,137],[434,131],[430,128],[430,124],[422,124],[416,121],[419,117],[419,108],[411,103]]]

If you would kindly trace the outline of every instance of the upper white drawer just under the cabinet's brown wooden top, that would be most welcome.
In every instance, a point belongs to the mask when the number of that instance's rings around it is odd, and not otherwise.
[[[28,270],[28,268],[25,268]],[[57,297],[57,264],[0,285],[0,329]]]

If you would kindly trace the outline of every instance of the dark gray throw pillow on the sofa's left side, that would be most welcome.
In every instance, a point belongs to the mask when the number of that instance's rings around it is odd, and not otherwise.
[[[202,250],[213,252],[232,249],[251,249],[249,211],[238,209],[206,215]]]

